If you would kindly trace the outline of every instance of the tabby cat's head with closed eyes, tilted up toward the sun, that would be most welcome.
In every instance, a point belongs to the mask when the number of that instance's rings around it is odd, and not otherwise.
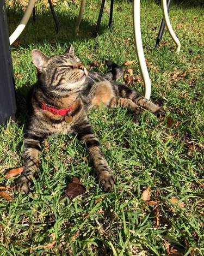
[[[47,90],[75,91],[79,90],[88,75],[86,68],[75,56],[72,45],[64,55],[47,57],[44,53],[34,49],[32,59],[38,70],[40,84]]]

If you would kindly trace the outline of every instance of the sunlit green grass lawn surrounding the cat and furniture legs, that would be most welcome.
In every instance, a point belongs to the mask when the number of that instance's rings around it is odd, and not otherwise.
[[[75,35],[79,3],[58,1],[55,11],[60,33],[56,35],[50,9],[38,2],[36,22],[30,19],[11,47],[17,115],[15,122],[1,128],[0,186],[12,187],[16,177],[5,178],[6,170],[23,165],[26,99],[36,81],[32,49],[53,55],[72,43],[86,66],[104,59],[118,64],[137,59],[132,2],[115,1],[113,34],[107,26],[109,13],[104,11],[98,43],[92,32],[100,1],[87,1],[79,34]],[[7,13],[11,34],[23,11],[20,6],[8,5]],[[50,148],[45,146],[40,155],[39,179],[31,192],[21,195],[8,189],[14,201],[0,198],[1,255],[167,255],[165,243],[183,255],[203,255],[202,13],[199,1],[173,1],[170,20],[182,45],[180,55],[176,55],[166,31],[159,49],[154,50],[162,11],[153,0],[141,1],[151,99],[164,106],[166,116],[171,116],[176,126],[168,128],[166,118],[147,111],[137,120],[121,109],[89,113],[116,176],[111,194],[98,187],[94,168],[84,160],[89,157],[75,135],[50,138]],[[140,75],[137,61],[130,67],[135,76]],[[96,69],[106,71],[104,66]],[[141,82],[130,86],[143,91]],[[73,176],[80,178],[86,193],[72,201],[60,201]],[[150,200],[160,201],[158,205],[144,206],[142,194],[148,186]],[[184,207],[172,204],[172,197]]]

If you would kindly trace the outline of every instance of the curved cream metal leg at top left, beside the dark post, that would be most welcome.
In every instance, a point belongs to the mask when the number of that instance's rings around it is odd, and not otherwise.
[[[30,15],[32,14],[33,8],[35,5],[35,0],[29,0],[28,6],[26,8],[26,12],[23,15],[23,18],[20,22],[20,24],[17,26],[16,30],[13,34],[9,37],[10,45],[14,43],[14,41],[19,37],[21,32],[23,31],[24,27],[26,27],[26,24],[30,18]]]

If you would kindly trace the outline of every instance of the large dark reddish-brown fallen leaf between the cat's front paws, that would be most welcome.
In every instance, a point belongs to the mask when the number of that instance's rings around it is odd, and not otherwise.
[[[82,182],[79,181],[79,179],[77,177],[73,177],[73,182],[68,184],[63,198],[70,197],[71,199],[73,199],[73,198],[77,197],[77,195],[81,195],[81,194],[85,193],[85,191],[86,191],[86,189],[85,189],[84,185],[82,184]]]

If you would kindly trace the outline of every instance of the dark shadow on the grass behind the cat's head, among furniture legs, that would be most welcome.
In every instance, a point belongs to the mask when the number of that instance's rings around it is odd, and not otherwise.
[[[76,40],[85,41],[90,38],[95,38],[96,23],[94,23],[93,20],[87,20],[85,17],[83,17],[79,26],[79,31],[76,33],[75,25],[77,16],[71,17],[69,13],[66,12],[63,14],[59,11],[56,12],[56,15],[60,28],[58,34],[56,33],[56,26],[51,14],[51,10],[46,9],[41,14],[36,13],[35,22],[33,21],[32,17],[30,18],[20,37],[18,37],[12,47],[29,47],[32,44],[64,44],[73,43]],[[13,33],[21,19],[21,9],[18,8],[14,10],[12,8],[8,8],[7,20],[9,34]],[[102,22],[98,32],[99,36],[100,34],[103,34],[106,29],[109,30],[108,23],[107,25],[103,25]]]

